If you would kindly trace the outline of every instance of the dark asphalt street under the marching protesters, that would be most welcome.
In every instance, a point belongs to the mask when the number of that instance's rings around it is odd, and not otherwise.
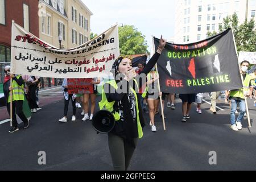
[[[81,109],[77,109],[77,120],[71,121],[70,103],[68,122],[59,123],[64,107],[61,94],[42,96],[41,100],[44,102],[42,109],[32,115],[28,129],[10,134],[8,122],[0,125],[0,170],[112,170],[107,135],[96,134],[90,121],[82,121]],[[205,100],[209,101],[209,97]],[[193,105],[191,119],[183,123],[181,102],[176,98],[176,109],[164,110],[165,131],[162,119],[156,115],[156,133],[151,132],[148,114],[144,113],[147,125],[129,170],[255,170],[256,107],[253,100],[248,102],[252,126],[247,127],[244,117],[239,132],[230,130],[229,106],[223,100],[218,102],[217,106],[224,111],[212,114],[209,104],[204,102],[203,113],[197,114]],[[0,113],[4,112],[5,108],[1,108]],[[6,119],[3,114],[1,119]],[[22,126],[20,124],[20,128]],[[46,152],[46,164],[38,163],[39,151]],[[210,151],[216,152],[217,164],[209,164]]]

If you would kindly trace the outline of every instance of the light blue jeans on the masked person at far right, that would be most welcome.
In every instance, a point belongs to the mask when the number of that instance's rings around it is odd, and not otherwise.
[[[231,111],[230,111],[230,121],[231,125],[234,125],[236,123],[236,109],[237,105],[240,106],[240,113],[237,118],[237,122],[241,122],[243,115],[245,115],[245,101],[238,101],[238,100],[230,100],[231,101]]]

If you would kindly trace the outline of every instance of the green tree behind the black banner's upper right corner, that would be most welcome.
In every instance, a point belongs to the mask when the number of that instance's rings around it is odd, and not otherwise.
[[[254,52],[256,50],[256,27],[253,18],[249,22],[245,19],[245,22],[238,26],[238,16],[234,13],[232,16],[227,16],[223,19],[223,24],[219,27],[219,32],[229,27],[233,28],[237,51]],[[216,34],[217,32],[207,32],[208,37]]]

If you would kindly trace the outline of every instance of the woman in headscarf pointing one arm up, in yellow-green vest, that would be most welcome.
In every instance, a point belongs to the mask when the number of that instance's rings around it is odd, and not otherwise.
[[[104,84],[99,106],[100,109],[104,106],[108,108],[115,118],[114,128],[108,133],[114,170],[127,170],[138,138],[143,136],[142,127],[145,123],[139,102],[139,88],[145,84],[147,74],[156,64],[165,45],[166,40],[161,36],[158,50],[139,73],[140,75],[136,74],[132,68],[131,57],[119,56],[112,67],[115,80]],[[139,85],[137,81],[140,76],[144,76],[142,85]]]

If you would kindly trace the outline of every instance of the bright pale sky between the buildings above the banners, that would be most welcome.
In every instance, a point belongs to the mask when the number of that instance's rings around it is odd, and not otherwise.
[[[82,0],[92,11],[90,29],[101,34],[116,22],[133,25],[146,36],[148,51],[152,37],[170,39],[174,36],[174,0]]]

